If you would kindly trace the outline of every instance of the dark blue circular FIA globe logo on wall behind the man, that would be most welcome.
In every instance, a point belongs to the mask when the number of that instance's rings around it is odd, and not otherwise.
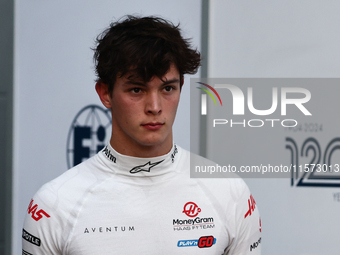
[[[110,136],[111,123],[109,111],[97,105],[88,105],[77,113],[67,138],[68,168],[104,148]]]

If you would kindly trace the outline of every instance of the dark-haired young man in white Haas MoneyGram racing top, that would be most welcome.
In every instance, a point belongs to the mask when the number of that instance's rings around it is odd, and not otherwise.
[[[23,254],[260,254],[245,183],[190,179],[198,156],[173,143],[183,75],[200,64],[178,26],[126,17],[98,37],[95,60],[110,143],[34,196]]]

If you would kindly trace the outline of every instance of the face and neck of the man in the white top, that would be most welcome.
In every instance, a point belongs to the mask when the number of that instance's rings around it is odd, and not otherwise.
[[[149,149],[167,153],[180,89],[180,74],[174,65],[162,80],[154,76],[145,83],[129,73],[117,77],[110,98],[113,148],[131,156],[143,156],[138,155],[141,150]]]

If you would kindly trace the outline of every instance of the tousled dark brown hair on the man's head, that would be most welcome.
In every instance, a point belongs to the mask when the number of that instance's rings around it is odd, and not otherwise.
[[[107,84],[110,93],[117,76],[127,72],[148,82],[155,75],[161,79],[175,64],[182,79],[196,73],[201,62],[200,53],[181,36],[179,24],[154,16],[125,16],[111,23],[96,43],[97,82]]]

